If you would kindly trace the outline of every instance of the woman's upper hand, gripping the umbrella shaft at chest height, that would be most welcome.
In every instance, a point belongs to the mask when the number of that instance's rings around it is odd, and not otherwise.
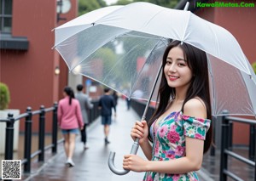
[[[139,144],[148,141],[148,124],[146,121],[136,122],[131,129],[131,138],[133,140],[139,139]]]

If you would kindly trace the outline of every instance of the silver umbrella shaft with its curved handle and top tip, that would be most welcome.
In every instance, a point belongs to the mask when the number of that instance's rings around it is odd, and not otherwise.
[[[188,8],[189,8],[189,2],[186,3],[186,5],[185,5],[185,7],[184,7],[183,10],[188,10]],[[150,104],[151,98],[152,98],[152,96],[153,96],[154,88],[155,88],[156,83],[157,83],[157,81],[158,81],[158,78],[159,78],[159,76],[160,76],[160,71],[161,71],[161,69],[162,69],[162,65],[160,66],[160,69],[159,69],[159,71],[158,71],[158,73],[157,73],[157,76],[155,77],[154,86],[153,86],[153,88],[152,88],[152,90],[151,90],[151,93],[150,93],[150,96],[149,96],[147,105],[146,105],[145,110],[144,110],[144,112],[143,112],[143,116],[142,116],[141,122],[142,122],[143,120],[145,120],[145,118],[146,118],[146,114],[147,114],[147,111],[148,111],[148,105]],[[139,147],[138,141],[139,141],[139,139],[135,139],[134,143],[132,144],[130,154],[133,154],[133,155],[136,155],[136,154],[137,154],[137,150],[138,150],[138,147]],[[117,175],[125,175],[125,174],[129,173],[130,170],[117,169],[117,168],[114,166],[114,156],[115,156],[115,152],[110,151],[109,156],[108,156],[108,167],[110,168],[110,170],[111,170],[113,173],[117,174]]]

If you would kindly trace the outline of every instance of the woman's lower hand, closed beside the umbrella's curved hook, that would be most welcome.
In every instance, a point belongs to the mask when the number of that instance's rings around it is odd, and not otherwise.
[[[137,173],[146,172],[147,162],[137,155],[126,155],[123,160],[123,168]]]

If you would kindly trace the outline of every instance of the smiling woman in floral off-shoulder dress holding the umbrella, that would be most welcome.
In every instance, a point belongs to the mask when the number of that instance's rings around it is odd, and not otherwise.
[[[147,181],[198,180],[195,171],[212,144],[207,70],[203,51],[184,42],[170,43],[163,56],[159,105],[148,123],[136,122],[131,130],[148,161],[127,155],[124,169],[146,172]]]

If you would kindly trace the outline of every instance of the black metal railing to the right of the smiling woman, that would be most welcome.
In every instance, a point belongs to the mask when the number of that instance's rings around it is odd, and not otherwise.
[[[228,112],[225,112],[228,114]],[[250,139],[249,139],[249,151],[248,159],[241,155],[236,154],[232,151],[232,132],[233,132],[233,122],[240,122],[243,124],[250,125]],[[255,125],[256,120],[243,119],[233,116],[223,116],[222,117],[222,141],[221,141],[221,150],[220,150],[220,181],[226,181],[228,177],[233,178],[234,180],[243,180],[239,178],[236,173],[230,172],[228,169],[229,156],[235,158],[238,161],[241,161],[247,164],[250,167],[254,168],[254,181],[256,181],[256,167],[255,167]]]

